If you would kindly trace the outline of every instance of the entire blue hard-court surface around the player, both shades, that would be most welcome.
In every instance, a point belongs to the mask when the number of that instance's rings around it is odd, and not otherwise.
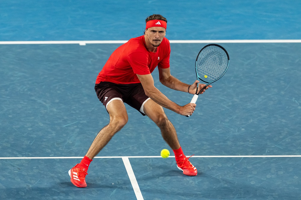
[[[1,1],[0,41],[128,40],[162,14],[172,40],[301,39],[299,1]],[[230,66],[191,117],[165,109],[199,174],[188,177],[159,129],[129,122],[70,182],[109,116],[98,72],[120,44],[0,45],[0,199],[300,199],[301,43],[219,43]],[[206,44],[171,44],[171,72],[195,80]],[[192,95],[155,86],[179,105]],[[253,157],[252,157],[253,156]],[[13,158],[13,159],[12,159]],[[131,173],[132,172],[132,173]]]

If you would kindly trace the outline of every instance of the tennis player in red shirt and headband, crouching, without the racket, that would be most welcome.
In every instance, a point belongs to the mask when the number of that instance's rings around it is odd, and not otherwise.
[[[95,91],[110,115],[110,123],[98,133],[82,161],[70,169],[71,182],[77,187],[87,186],[85,176],[90,162],[127,123],[124,103],[156,123],[163,139],[172,148],[177,167],[183,174],[197,175],[197,169],[183,153],[175,128],[163,111],[164,107],[180,115],[191,115],[196,104],[180,106],[169,100],[154,86],[151,72],[158,66],[159,79],[163,85],[191,94],[195,94],[199,81],[188,85],[170,74],[170,45],[165,38],[166,18],[154,14],[145,21],[145,34],[118,47],[98,74]],[[203,86],[200,84],[199,88]],[[205,89],[208,87],[211,86]]]

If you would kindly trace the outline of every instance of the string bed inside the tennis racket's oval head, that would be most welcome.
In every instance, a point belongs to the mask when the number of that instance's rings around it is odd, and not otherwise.
[[[208,82],[221,77],[227,67],[227,54],[220,47],[216,46],[209,46],[203,49],[196,61],[197,73],[203,80]]]

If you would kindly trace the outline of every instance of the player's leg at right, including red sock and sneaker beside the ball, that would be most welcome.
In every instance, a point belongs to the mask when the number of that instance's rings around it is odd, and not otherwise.
[[[177,132],[175,131],[175,127],[167,119],[167,116],[164,113],[162,106],[149,99],[147,102],[145,102],[143,111],[160,128],[163,139],[175,153],[177,167],[180,170],[182,170],[183,174],[185,175],[196,176],[197,168],[195,168],[191,164],[191,162],[189,162],[189,157],[187,158],[184,155],[180,143],[178,141],[178,136]]]

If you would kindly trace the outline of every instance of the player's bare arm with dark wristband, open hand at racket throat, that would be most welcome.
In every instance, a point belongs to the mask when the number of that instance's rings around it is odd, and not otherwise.
[[[172,76],[170,74],[170,68],[160,68],[158,67],[159,70],[159,79],[160,82],[165,85],[166,87],[169,87],[171,89],[174,90],[178,90],[178,91],[182,91],[182,92],[188,92],[188,84],[183,83],[182,81],[178,80],[177,78],[175,78],[174,76]],[[194,81],[193,84],[191,84],[191,86],[189,87],[189,93],[190,94],[195,94],[196,90],[197,90],[197,84],[200,81],[196,80]],[[199,88],[202,89],[205,86],[205,84],[199,84]],[[211,85],[207,86],[203,92],[205,92],[206,89],[208,89],[209,87],[212,87]],[[203,92],[201,92],[200,94],[203,94]]]

